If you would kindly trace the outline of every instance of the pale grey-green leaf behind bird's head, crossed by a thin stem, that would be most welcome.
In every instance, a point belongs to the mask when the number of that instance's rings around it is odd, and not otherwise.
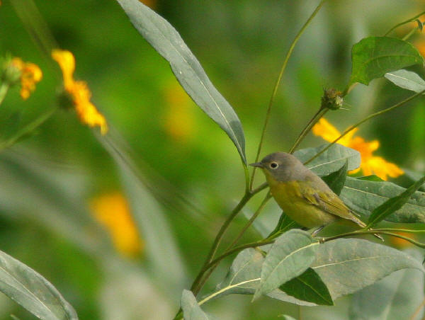
[[[327,144],[323,144],[317,148],[300,149],[294,152],[294,156],[300,159],[300,161],[306,162],[325,147],[327,147]],[[358,168],[361,162],[360,153],[341,144],[334,144],[323,154],[307,164],[307,168],[318,176],[327,176],[330,173],[338,171],[341,166],[344,166],[346,161],[348,161],[348,170]]]

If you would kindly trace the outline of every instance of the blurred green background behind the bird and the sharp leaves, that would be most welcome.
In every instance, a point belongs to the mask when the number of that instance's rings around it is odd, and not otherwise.
[[[283,57],[317,3],[149,1],[179,31],[239,115],[250,162]],[[89,84],[111,137],[130,150],[145,183],[137,183],[118,168],[94,135],[97,130],[81,125],[73,112],[58,110],[34,135],[0,154],[0,249],[50,280],[80,319],[170,319],[223,219],[243,195],[239,155],[225,133],[183,93],[169,65],[132,27],[117,2],[35,0],[35,4],[60,47],[74,53],[76,78]],[[290,148],[319,107],[323,88],[344,88],[354,43],[368,35],[383,35],[424,11],[424,4],[419,0],[328,1],[290,58],[262,155]],[[412,25],[393,35],[402,37],[409,28]],[[420,48],[423,38],[414,35],[412,42]],[[14,123],[23,127],[57,103],[61,79],[59,69],[38,50],[7,0],[0,6],[0,52],[34,62],[43,71],[28,101],[21,101],[18,88],[13,88],[0,106],[3,128],[11,126],[11,115],[18,110],[20,122]],[[346,110],[327,119],[344,130],[409,94],[384,79],[358,85],[346,98]],[[424,123],[424,101],[416,100],[368,122],[357,135],[378,139],[376,154],[388,161],[423,173]],[[310,134],[301,147],[322,143]],[[261,175],[256,178],[256,184],[260,182]],[[409,180],[398,182],[406,185]],[[120,196],[108,195],[125,195],[130,202],[139,227],[139,248],[125,253],[117,244],[119,223],[111,219],[127,204]],[[102,200],[106,207],[118,206],[103,224],[101,214],[93,214],[94,203]],[[246,213],[255,210],[260,200],[249,202]],[[273,225],[278,207],[270,202],[265,211],[263,223]],[[241,215],[236,224],[240,227],[244,222]],[[128,226],[131,222],[123,222],[122,234],[128,235]],[[251,231],[244,239],[258,237]],[[204,293],[222,280],[229,262],[212,275]],[[298,314],[296,307],[272,299],[252,304],[250,300],[227,296],[204,309],[219,319]],[[303,308],[302,316],[348,319],[349,303],[347,297],[339,299],[336,307]],[[0,318],[10,319],[10,314],[35,318],[1,296]]]

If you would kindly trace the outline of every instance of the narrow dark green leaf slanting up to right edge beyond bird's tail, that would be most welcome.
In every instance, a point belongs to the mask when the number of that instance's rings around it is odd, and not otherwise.
[[[369,217],[368,227],[372,227],[374,224],[377,224],[378,222],[391,215],[392,212],[399,210],[404,205],[404,203],[406,203],[407,200],[409,200],[410,197],[416,192],[416,190],[421,188],[421,185],[423,185],[424,183],[425,176],[423,176],[414,184],[412,184],[409,188],[404,190],[404,192],[397,195],[397,197],[388,199],[387,201],[382,203],[382,205],[376,207]]]

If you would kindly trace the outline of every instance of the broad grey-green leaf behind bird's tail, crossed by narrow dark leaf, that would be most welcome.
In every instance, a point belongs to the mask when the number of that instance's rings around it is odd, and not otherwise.
[[[365,181],[347,177],[340,198],[352,210],[369,216],[376,207],[404,190],[406,189],[387,181]],[[425,193],[416,191],[386,220],[397,223],[425,223]]]

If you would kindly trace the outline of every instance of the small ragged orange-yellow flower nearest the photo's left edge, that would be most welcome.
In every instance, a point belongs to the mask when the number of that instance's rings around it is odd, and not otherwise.
[[[35,84],[42,79],[41,69],[37,64],[30,62],[23,62],[21,58],[14,57],[11,61],[13,67],[21,72],[21,98],[26,100],[29,98],[31,92],[35,90]]]

